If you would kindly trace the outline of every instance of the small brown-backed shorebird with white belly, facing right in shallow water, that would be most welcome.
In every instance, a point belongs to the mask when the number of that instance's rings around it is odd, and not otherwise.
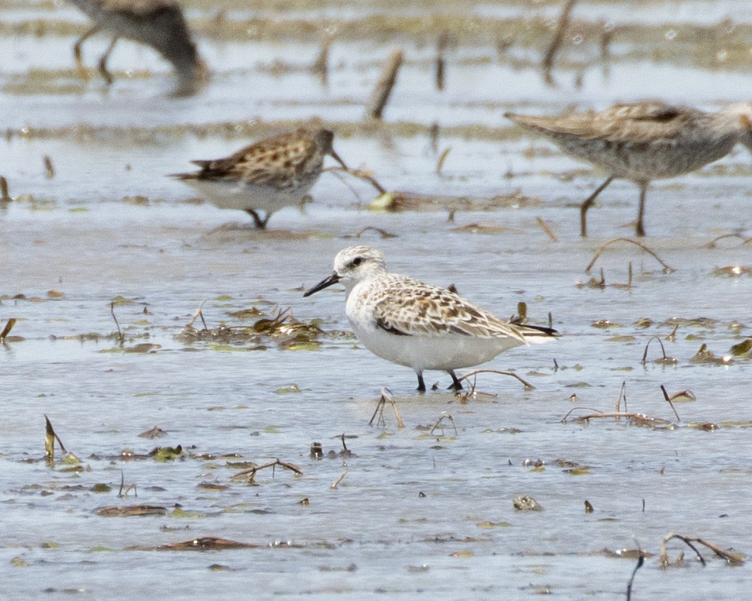
[[[222,209],[247,211],[256,228],[284,207],[300,204],[317,182],[326,155],[347,169],[329,129],[298,128],[241,148],[226,159],[192,161],[201,171],[173,174]],[[259,211],[266,214],[259,216]]]

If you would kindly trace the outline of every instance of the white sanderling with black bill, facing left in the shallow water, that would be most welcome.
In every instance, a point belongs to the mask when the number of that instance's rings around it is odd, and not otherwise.
[[[459,390],[454,370],[558,336],[551,328],[499,319],[444,288],[389,273],[384,254],[368,246],[338,252],[332,275],[303,295],[337,282],[344,284],[345,313],[358,340],[374,355],[412,367],[419,391],[426,390],[423,370],[447,372]]]

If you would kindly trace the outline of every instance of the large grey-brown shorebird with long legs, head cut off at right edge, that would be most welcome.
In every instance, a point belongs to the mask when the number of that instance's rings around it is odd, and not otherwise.
[[[599,113],[526,116],[505,113],[556,143],[575,159],[608,172],[608,178],[580,207],[580,235],[587,236],[587,210],[615,178],[640,186],[635,234],[644,236],[647,186],[687,174],[726,156],[736,143],[752,150],[752,104],[732,104],[717,113],[660,101],[617,104]]]

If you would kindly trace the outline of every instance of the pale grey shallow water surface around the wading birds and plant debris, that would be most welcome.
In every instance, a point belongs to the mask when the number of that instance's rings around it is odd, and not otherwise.
[[[452,6],[406,3],[405,15],[456,12],[460,19],[469,10]],[[299,2],[285,12],[228,3],[225,19],[356,20],[394,17],[401,7]],[[638,548],[649,555],[634,599],[748,596],[748,563],[726,565],[701,546],[702,567],[690,548],[672,542],[669,559],[684,551],[684,566],[662,569],[657,554],[670,532],[743,557],[752,550],[750,360],[748,352],[732,356],[732,346],[752,337],[749,154],[736,149],[651,187],[644,243],[674,271],[621,242],[585,273],[602,243],[632,236],[636,186],[614,183],[590,211],[591,237],[581,240],[578,204],[600,174],[502,117],[511,109],[556,113],[638,98],[708,109],[750,100],[750,65],[709,67],[702,55],[720,56],[726,41],[729,51],[750,47],[752,38],[710,36],[708,48],[682,59],[663,46],[675,43],[663,32],[676,29],[679,43],[687,23],[714,27],[729,17],[736,32],[746,31],[739,2],[640,7],[629,14],[619,2],[578,5],[573,27],[592,31],[609,19],[655,26],[661,35],[651,42],[652,59],[641,54],[641,38],[624,34],[614,38],[608,69],[583,68],[597,58],[597,40],[587,46],[572,38],[555,72],[559,86],[549,88],[520,62],[539,56],[542,42],[513,41],[499,55],[493,41],[460,37],[447,56],[447,87],[437,92],[433,34],[361,42],[334,35],[323,86],[305,70],[315,39],[249,33],[225,40],[207,24],[216,10],[193,2],[188,14],[214,78],[199,95],[177,100],[167,95],[168,65],[128,42],[112,57],[111,90],[96,77],[80,83],[70,47],[83,17],[53,3],[0,3],[0,56],[12,57],[0,65],[7,132],[0,175],[14,197],[0,210],[0,328],[18,320],[0,346],[0,596],[623,599],[636,557],[620,551]],[[475,20],[556,14],[550,3],[472,8]],[[73,29],[13,29],[37,20]],[[89,65],[106,41],[90,44]],[[396,46],[405,49],[405,67],[385,123],[362,125],[380,62]],[[311,116],[330,122],[338,153],[387,189],[456,197],[453,222],[449,210],[368,210],[367,184],[324,174],[305,212],[280,211],[270,231],[258,232],[244,214],[195,202],[165,177],[190,169],[190,159],[225,156],[268,128]],[[440,133],[432,143],[434,122]],[[45,177],[44,156],[54,177]],[[514,192],[517,201],[462,209],[461,197]],[[353,238],[366,226],[393,237],[369,230]],[[710,244],[724,234],[740,235]],[[343,334],[341,289],[302,297],[329,273],[335,253],[356,241],[384,249],[392,270],[454,283],[500,316],[516,313],[520,301],[533,323],[546,324],[551,313],[560,340],[484,366],[514,370],[535,389],[481,374],[478,394],[462,399],[443,390],[445,374],[428,373],[439,390],[414,393],[411,370]],[[631,288],[614,286],[626,284],[630,262]],[[605,286],[587,285],[601,268]],[[111,316],[116,299],[122,345]],[[290,307],[302,322],[320,320],[323,334],[316,349],[299,350],[270,336],[186,340],[180,334],[201,306],[209,328],[250,326]],[[252,307],[262,315],[232,314]],[[200,319],[194,325],[201,328]],[[641,363],[653,336],[675,364],[656,363],[656,340]],[[715,361],[699,361],[703,344]],[[623,383],[622,410],[670,425],[562,422],[575,408],[587,409],[570,418],[613,411]],[[669,394],[693,393],[695,400],[675,403],[681,420],[661,385]],[[388,406],[383,424],[368,425],[384,386],[402,429]],[[82,471],[66,471],[59,448],[54,467],[45,464],[45,414]],[[166,435],[138,436],[155,425]],[[342,434],[352,452],[346,458]],[[323,459],[311,458],[314,441]],[[164,463],[120,458],[123,449],[144,455],[158,445],[182,445],[183,455]],[[277,468],[259,471],[253,485],[231,480],[241,470],[232,464],[276,458],[302,476]],[[544,464],[535,469],[526,460]],[[118,497],[121,477],[136,487],[125,497]],[[96,492],[96,485],[109,489]],[[512,500],[525,494],[543,511],[516,512]],[[137,504],[161,506],[165,515],[98,514]],[[253,547],[159,550],[210,536]]]

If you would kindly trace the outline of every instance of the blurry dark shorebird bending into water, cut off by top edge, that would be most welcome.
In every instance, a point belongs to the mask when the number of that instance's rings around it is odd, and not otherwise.
[[[102,58],[99,72],[108,84],[113,77],[107,61],[119,38],[128,38],[153,47],[172,63],[178,77],[176,93],[189,95],[208,77],[208,69],[199,57],[183,11],[175,0],[68,0],[92,20],[92,27],[73,47],[73,56],[81,73],[81,44],[100,31],[109,32],[112,41]]]

